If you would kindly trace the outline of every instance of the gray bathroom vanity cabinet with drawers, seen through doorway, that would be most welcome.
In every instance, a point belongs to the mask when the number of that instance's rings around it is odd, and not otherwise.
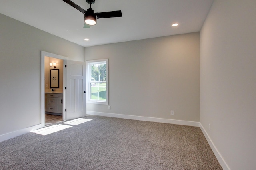
[[[63,94],[45,93],[45,112],[52,115],[62,115]]]

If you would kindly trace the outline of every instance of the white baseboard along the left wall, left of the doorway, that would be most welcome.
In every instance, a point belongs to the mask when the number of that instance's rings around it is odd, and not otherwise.
[[[0,135],[0,142],[42,128],[41,124]]]

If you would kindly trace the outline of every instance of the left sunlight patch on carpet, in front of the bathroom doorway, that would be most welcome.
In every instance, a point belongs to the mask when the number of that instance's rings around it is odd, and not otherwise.
[[[58,132],[60,130],[64,130],[66,128],[70,128],[72,126],[70,125],[52,125],[50,127],[45,127],[45,128],[40,128],[38,130],[34,130],[32,131],[32,133],[36,133],[36,134],[41,134],[41,135],[48,135],[48,134],[52,134],[54,132]]]

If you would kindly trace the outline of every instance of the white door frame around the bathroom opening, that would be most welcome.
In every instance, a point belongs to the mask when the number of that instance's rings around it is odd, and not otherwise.
[[[45,103],[44,103],[44,57],[52,57],[52,58],[57,58],[57,59],[68,60],[68,57],[41,51],[41,127],[42,128],[45,126],[45,118],[44,118],[45,117],[45,115],[44,115],[44,105],[45,105]],[[64,85],[64,81],[66,81],[66,71],[63,70],[63,85]],[[63,96],[65,96],[65,88],[63,88]],[[63,103],[66,103],[66,101],[63,101]],[[63,119],[66,120],[66,112],[65,112],[64,107],[65,107],[65,105],[63,105],[62,116],[63,116]]]

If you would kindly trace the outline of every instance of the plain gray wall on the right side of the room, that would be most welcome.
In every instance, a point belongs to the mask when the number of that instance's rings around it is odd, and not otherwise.
[[[215,0],[200,32],[200,122],[232,170],[256,168],[255,16],[255,0]]]

